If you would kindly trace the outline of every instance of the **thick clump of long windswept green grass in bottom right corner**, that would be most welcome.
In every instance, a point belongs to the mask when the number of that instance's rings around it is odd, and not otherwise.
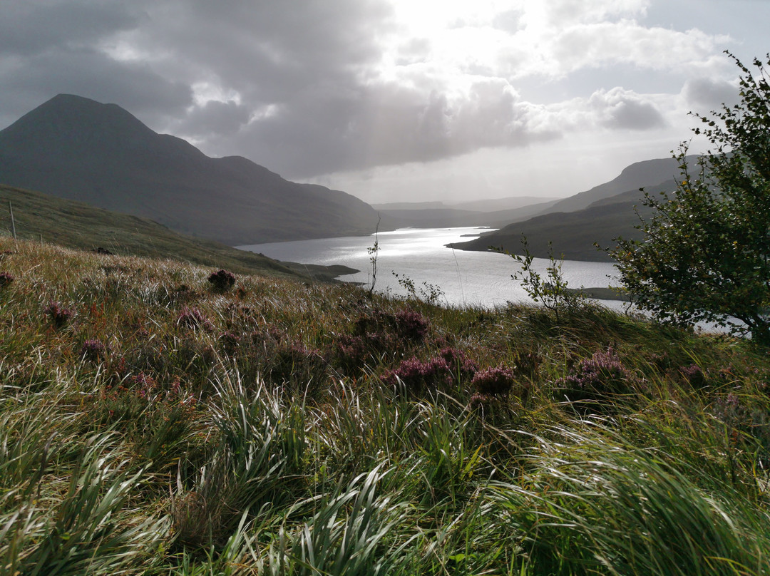
[[[490,495],[536,572],[768,573],[770,517],[745,494],[705,491],[694,462],[610,430],[553,432]]]

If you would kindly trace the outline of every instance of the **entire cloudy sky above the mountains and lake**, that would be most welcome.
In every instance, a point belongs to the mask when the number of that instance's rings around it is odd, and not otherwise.
[[[0,0],[0,128],[59,93],[370,203],[570,196],[664,158],[770,0]],[[705,142],[691,142],[705,150]]]

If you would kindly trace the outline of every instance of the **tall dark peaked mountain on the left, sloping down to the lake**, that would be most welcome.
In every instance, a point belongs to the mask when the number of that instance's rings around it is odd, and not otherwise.
[[[57,95],[0,131],[0,183],[231,246],[369,234],[379,218],[350,194],[290,182],[240,156],[209,158],[118,105],[76,95]]]

